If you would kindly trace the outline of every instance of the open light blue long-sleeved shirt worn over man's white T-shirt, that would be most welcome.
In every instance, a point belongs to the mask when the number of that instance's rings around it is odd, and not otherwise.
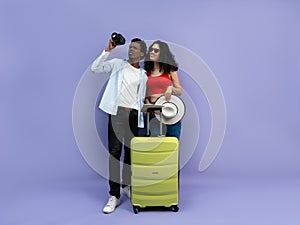
[[[121,85],[124,76],[124,68],[127,64],[125,59],[107,60],[109,52],[103,50],[101,55],[95,59],[91,66],[94,73],[110,73],[108,83],[103,93],[99,108],[104,112],[116,115],[118,111],[118,99],[120,95]],[[138,87],[138,127],[144,127],[144,117],[141,111],[144,105],[146,94],[147,75],[144,69],[140,69],[139,87]]]

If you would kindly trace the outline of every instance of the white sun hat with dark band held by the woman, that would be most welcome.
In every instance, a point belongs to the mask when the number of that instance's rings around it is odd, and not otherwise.
[[[155,105],[162,105],[162,123],[172,125],[179,122],[185,113],[185,105],[181,98],[176,95],[171,95],[169,101],[166,100],[165,96],[159,97]],[[160,120],[160,115],[155,115]]]

